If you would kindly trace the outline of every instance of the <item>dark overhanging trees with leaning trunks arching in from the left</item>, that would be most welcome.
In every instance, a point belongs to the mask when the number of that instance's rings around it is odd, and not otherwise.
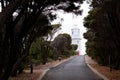
[[[84,0],[0,0],[0,80],[14,75],[37,37],[49,33],[53,11],[79,14]],[[52,32],[51,32],[52,33]]]

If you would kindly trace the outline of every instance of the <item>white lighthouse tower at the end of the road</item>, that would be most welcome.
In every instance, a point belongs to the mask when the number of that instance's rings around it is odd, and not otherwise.
[[[80,29],[77,28],[77,27],[74,27],[71,29],[72,33],[71,33],[71,36],[72,36],[72,44],[77,44],[78,45],[78,48],[77,48],[77,52],[81,52],[81,46],[80,46],[80,43],[81,43],[81,38],[80,38]]]

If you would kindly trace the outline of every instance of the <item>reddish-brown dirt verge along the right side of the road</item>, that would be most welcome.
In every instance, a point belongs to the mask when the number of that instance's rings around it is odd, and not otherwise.
[[[109,80],[120,80],[120,70],[112,70],[110,72],[109,67],[101,66],[97,64],[94,60],[92,60],[89,56],[85,56],[86,63],[92,66],[95,70],[97,70],[99,73],[106,76]]]

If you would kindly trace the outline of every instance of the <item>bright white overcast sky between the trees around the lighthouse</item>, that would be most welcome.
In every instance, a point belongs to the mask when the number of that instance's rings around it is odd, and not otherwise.
[[[80,38],[81,38],[81,52],[80,54],[84,55],[86,54],[85,50],[85,40],[83,38],[83,33],[86,32],[86,28],[83,26],[83,19],[85,16],[88,15],[88,11],[90,10],[89,4],[85,1],[82,5],[81,8],[83,10],[82,15],[76,16],[73,13],[65,13],[63,11],[57,12],[58,16],[57,19],[54,20],[52,23],[61,23],[61,30],[57,33],[68,33],[71,35],[71,29],[74,27],[77,27],[80,29]],[[61,20],[62,19],[62,20]]]

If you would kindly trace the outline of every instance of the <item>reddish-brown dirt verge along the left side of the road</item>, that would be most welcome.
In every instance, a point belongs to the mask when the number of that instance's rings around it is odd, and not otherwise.
[[[67,59],[62,59],[61,61],[57,60],[57,61],[49,62],[46,65],[41,64],[41,65],[35,66],[33,69],[33,74],[30,74],[29,69],[26,69],[22,74],[17,75],[16,77],[11,77],[9,80],[37,80],[46,69],[50,67],[54,67],[56,64],[62,63],[66,60]]]

